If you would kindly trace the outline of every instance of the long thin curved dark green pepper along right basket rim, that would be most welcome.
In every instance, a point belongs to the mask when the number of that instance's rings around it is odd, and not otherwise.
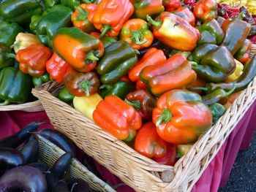
[[[244,72],[241,74],[238,79],[232,81],[232,82],[219,82],[214,83],[210,82],[206,85],[206,88],[208,88],[207,92],[214,91],[217,88],[222,88],[225,91],[230,91],[231,88],[233,88],[233,84],[236,83],[236,89],[233,91],[233,93],[236,93],[238,91],[244,90],[244,88],[249,85],[249,82],[253,80],[253,78],[256,75],[256,56],[254,55],[251,61],[249,61],[249,64],[246,65],[244,68]]]

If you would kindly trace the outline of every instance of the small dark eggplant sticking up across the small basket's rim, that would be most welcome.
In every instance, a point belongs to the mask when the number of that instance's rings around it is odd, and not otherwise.
[[[72,157],[72,153],[64,153],[64,155],[61,155],[50,169],[50,173],[54,174],[59,180],[63,179],[71,164]]]

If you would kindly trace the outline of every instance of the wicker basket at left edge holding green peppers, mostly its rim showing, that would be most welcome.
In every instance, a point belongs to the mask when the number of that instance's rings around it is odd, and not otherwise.
[[[45,90],[51,90],[53,87],[56,89],[56,83],[46,82],[44,85]],[[52,91],[53,95],[56,95],[59,90],[56,90],[55,92]],[[39,112],[43,111],[44,108],[42,107],[41,101],[33,101],[25,104],[8,104],[5,106],[0,106],[0,111],[14,111],[14,110],[22,110],[26,112]]]

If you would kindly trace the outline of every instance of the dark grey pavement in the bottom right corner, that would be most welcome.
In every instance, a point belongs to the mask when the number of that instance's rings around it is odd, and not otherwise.
[[[227,184],[218,192],[256,192],[256,131],[248,150],[238,152]]]

